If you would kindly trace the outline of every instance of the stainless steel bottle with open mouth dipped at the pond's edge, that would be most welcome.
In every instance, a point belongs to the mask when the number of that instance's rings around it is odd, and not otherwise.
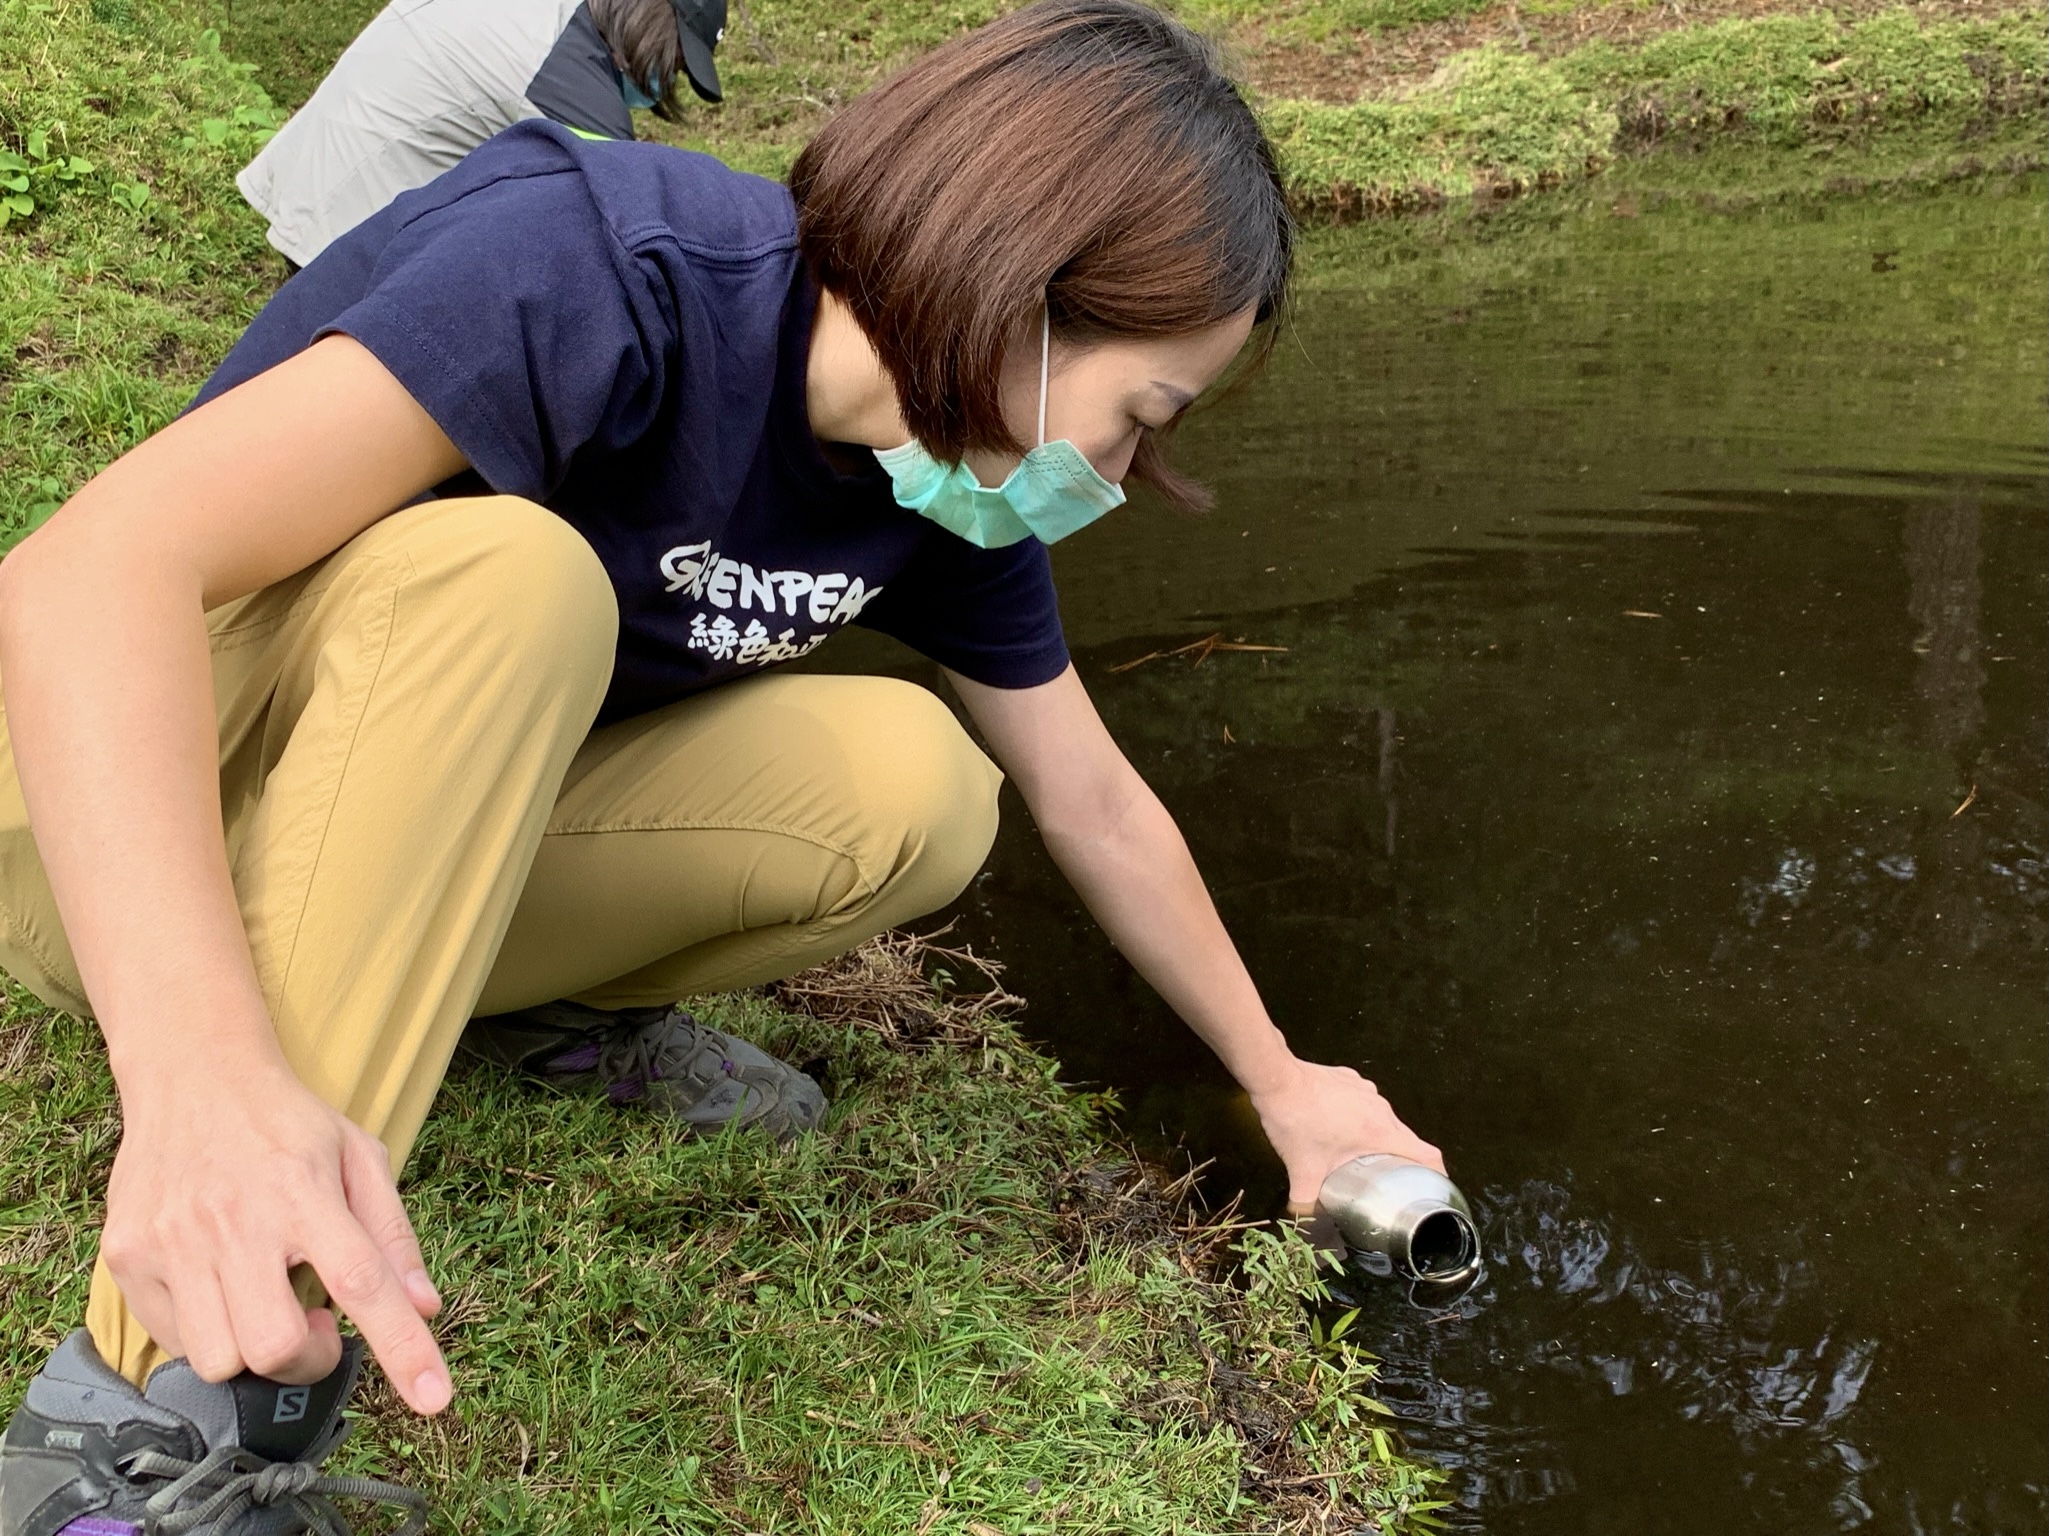
[[[1318,1204],[1367,1274],[1436,1290],[1479,1278],[1479,1229],[1459,1186],[1393,1153],[1354,1157],[1324,1180]]]

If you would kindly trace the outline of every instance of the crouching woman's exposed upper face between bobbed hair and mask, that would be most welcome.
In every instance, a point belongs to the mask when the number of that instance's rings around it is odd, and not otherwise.
[[[1207,330],[1145,340],[1065,346],[1053,338],[1053,377],[1045,395],[1045,440],[1065,438],[1109,481],[1131,469],[1143,428],[1164,428],[1229,367],[1252,334],[1248,307]],[[1039,334],[1004,358],[1004,422],[1020,442],[1039,436]],[[969,453],[984,485],[1002,485],[1016,455]]]

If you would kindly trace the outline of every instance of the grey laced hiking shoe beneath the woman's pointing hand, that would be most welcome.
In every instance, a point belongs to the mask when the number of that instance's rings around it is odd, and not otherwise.
[[[215,1384],[170,1360],[135,1391],[78,1329],[0,1440],[0,1536],[350,1536],[334,1499],[406,1509],[391,1536],[416,1536],[422,1495],[320,1470],[348,1434],[361,1364],[361,1339],[311,1386]]]

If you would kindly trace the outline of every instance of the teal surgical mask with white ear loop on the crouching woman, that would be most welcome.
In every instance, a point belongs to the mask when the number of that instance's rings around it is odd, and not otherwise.
[[[1045,389],[1053,365],[1053,315],[1039,324],[1039,444],[998,487],[975,479],[965,463],[943,465],[912,438],[902,449],[877,449],[889,471],[897,506],[930,518],[981,549],[1002,549],[1041,539],[1055,543],[1086,528],[1113,506],[1123,506],[1123,485],[1111,485],[1080,449],[1061,438],[1045,440]]]

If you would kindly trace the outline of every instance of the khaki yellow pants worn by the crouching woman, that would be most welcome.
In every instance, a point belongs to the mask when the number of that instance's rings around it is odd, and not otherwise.
[[[209,629],[264,999],[393,1167],[471,1014],[789,975],[951,901],[996,836],[1000,774],[906,682],[764,676],[592,731],[613,588],[516,498],[398,512]],[[90,1014],[4,717],[0,965]],[[137,1384],[164,1358],[104,1264],[86,1321]]]

